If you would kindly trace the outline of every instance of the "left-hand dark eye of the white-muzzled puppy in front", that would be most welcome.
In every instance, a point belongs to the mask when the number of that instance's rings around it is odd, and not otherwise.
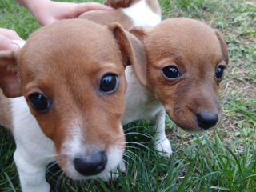
[[[42,94],[30,94],[29,101],[34,110],[38,113],[46,113],[50,110],[50,101]]]

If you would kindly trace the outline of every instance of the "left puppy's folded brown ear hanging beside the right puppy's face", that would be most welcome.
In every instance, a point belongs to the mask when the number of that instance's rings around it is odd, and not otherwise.
[[[109,27],[118,43],[124,66],[132,65],[138,81],[142,86],[146,86],[147,60],[143,43],[133,34],[123,30],[122,26],[117,23],[111,24]]]

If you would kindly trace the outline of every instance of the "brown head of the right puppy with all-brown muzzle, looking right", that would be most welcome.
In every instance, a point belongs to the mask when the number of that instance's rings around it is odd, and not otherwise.
[[[170,118],[184,130],[206,130],[221,115],[218,86],[228,63],[226,43],[217,30],[189,18],[163,21],[150,30],[131,30],[146,46],[146,73]],[[135,69],[136,70],[136,69]]]

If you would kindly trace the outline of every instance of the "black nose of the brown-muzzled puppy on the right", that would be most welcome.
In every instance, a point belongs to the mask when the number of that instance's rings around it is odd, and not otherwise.
[[[218,114],[200,113],[197,114],[198,126],[207,130],[218,122]]]

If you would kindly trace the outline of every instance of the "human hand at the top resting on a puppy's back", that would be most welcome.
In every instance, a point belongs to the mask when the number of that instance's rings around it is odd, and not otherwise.
[[[38,22],[45,26],[65,18],[77,18],[80,14],[89,10],[113,10],[96,2],[72,3],[72,2],[51,2],[48,0],[28,1],[26,4]]]

